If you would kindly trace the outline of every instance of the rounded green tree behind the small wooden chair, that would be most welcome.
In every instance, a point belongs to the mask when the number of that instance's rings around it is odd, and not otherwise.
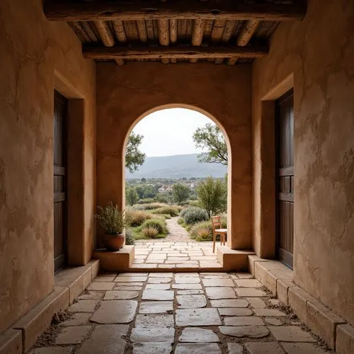
[[[227,185],[220,179],[208,177],[197,185],[200,205],[211,217],[227,210]]]

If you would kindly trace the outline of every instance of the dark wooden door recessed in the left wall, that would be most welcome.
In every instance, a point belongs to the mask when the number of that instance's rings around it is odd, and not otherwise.
[[[54,262],[55,272],[67,264],[66,134],[67,99],[54,98]]]

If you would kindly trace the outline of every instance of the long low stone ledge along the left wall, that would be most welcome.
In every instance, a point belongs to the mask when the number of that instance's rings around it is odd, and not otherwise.
[[[98,261],[90,261],[87,265],[67,268],[55,276],[55,288],[36,307],[22,317],[13,329],[22,331],[22,347],[26,352],[33,346],[38,336],[52,323],[55,312],[67,309],[75,296],[81,294],[96,276]],[[7,354],[1,352],[0,354]]]

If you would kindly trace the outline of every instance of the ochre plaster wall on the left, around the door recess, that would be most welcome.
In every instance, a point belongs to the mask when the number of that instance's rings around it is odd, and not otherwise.
[[[55,87],[84,102],[81,127],[69,131],[69,139],[77,139],[73,149],[84,166],[69,171],[72,187],[84,185],[82,200],[69,190],[74,205],[81,203],[76,222],[83,224],[83,234],[69,232],[69,238],[81,238],[81,254],[73,263],[91,258],[95,85],[95,64],[82,58],[81,43],[66,23],[45,19],[42,1],[0,1],[0,332],[54,286]]]

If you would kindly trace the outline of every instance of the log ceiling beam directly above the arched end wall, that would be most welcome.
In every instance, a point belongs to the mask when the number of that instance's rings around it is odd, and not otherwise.
[[[89,59],[208,59],[208,58],[258,58],[268,54],[268,47],[93,47],[84,45],[83,55]]]

